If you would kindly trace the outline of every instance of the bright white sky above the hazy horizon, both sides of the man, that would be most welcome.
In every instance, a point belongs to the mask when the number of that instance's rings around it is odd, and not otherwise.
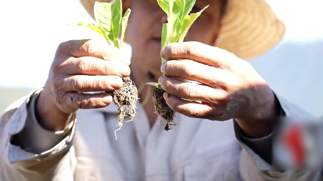
[[[284,41],[323,41],[322,0],[267,2],[286,24]],[[0,18],[0,86],[42,86],[57,45],[86,38],[83,35],[89,32],[66,25],[90,19],[78,0],[2,1]]]

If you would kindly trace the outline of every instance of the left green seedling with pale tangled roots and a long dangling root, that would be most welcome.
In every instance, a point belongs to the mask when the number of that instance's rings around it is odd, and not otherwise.
[[[94,17],[97,25],[90,23],[79,23],[78,25],[96,31],[104,37],[109,45],[116,48],[121,48],[130,12],[131,10],[128,9],[122,17],[121,0],[114,0],[111,3],[95,2]],[[118,41],[120,32],[120,41]],[[114,61],[114,59],[110,57],[102,57],[102,59],[107,61]],[[122,78],[122,80],[123,85],[119,90],[106,91],[107,93],[111,94],[113,102],[117,105],[119,112],[119,129],[117,129],[116,131],[121,129],[123,119],[126,116],[130,116],[130,121],[133,120],[136,113],[136,101],[138,100],[138,90],[134,82],[131,81],[129,77]]]

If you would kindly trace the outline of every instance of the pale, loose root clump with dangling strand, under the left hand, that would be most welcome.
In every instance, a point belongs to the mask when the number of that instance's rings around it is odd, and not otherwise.
[[[119,129],[116,131],[121,129],[125,117],[130,116],[129,121],[133,120],[138,100],[138,90],[135,83],[129,77],[122,78],[122,80],[123,85],[119,90],[106,91],[112,96],[114,104],[117,105]]]

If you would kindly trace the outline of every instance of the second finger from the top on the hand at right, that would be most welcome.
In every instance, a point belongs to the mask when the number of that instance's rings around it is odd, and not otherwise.
[[[161,65],[161,72],[169,77],[197,81],[223,90],[227,90],[226,80],[232,77],[227,71],[191,60],[167,61]]]

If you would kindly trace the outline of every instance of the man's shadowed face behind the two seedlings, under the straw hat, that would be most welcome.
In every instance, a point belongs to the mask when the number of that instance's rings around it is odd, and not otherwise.
[[[130,1],[129,1],[130,2]],[[132,63],[140,64],[143,71],[161,75],[161,29],[167,23],[167,15],[157,0],[131,0],[131,15],[127,38],[132,46]],[[219,32],[220,0],[197,0],[192,9],[196,13],[210,5],[190,28],[185,41],[198,41],[213,45]],[[143,73],[146,73],[143,72]]]

